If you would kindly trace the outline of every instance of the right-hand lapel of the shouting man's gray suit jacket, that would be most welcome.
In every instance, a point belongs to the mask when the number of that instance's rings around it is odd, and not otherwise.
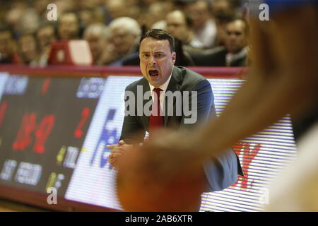
[[[169,85],[167,86],[166,93],[167,91],[171,91],[172,93],[174,93],[175,91],[179,90],[180,81],[182,81],[181,70],[177,68],[176,66],[174,66],[172,69],[172,76],[171,76]],[[168,114],[169,112],[172,112],[174,108],[175,108],[175,100],[173,100],[173,107],[170,109],[167,109],[167,97],[165,97],[165,116],[163,117],[164,126],[167,126],[167,121],[169,119]]]

